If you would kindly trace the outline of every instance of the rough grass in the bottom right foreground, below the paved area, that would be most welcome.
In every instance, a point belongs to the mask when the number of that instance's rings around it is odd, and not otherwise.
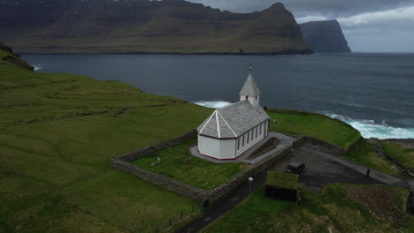
[[[299,204],[267,198],[264,189],[259,189],[252,195],[250,206],[245,199],[201,232],[329,232],[328,228],[333,232],[412,232],[412,215],[405,212],[408,190],[392,186],[380,188],[391,194],[395,214],[403,219],[395,223],[380,219],[349,199],[346,185],[349,184],[330,184],[323,194],[302,191]],[[364,186],[349,186],[364,190]]]

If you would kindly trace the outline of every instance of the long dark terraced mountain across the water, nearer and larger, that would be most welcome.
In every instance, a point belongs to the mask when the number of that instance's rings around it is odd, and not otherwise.
[[[283,4],[232,13],[184,0],[8,2],[0,4],[0,40],[24,53],[312,52]]]

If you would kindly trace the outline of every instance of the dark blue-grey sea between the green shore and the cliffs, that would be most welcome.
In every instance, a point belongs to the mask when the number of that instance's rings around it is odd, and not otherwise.
[[[210,108],[239,101],[251,64],[262,106],[322,113],[353,125],[365,138],[414,139],[414,54],[23,58],[36,71],[120,80]]]

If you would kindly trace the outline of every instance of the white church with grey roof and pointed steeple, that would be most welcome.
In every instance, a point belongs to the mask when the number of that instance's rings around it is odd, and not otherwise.
[[[265,139],[270,117],[259,101],[260,91],[250,68],[240,101],[216,109],[197,128],[200,154],[218,160],[235,160]]]

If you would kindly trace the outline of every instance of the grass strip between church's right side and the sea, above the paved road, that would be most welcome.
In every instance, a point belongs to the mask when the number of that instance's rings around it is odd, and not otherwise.
[[[327,116],[277,109],[270,109],[268,114],[272,119],[276,119],[276,123],[271,121],[271,131],[294,135],[303,134],[326,140],[342,148],[349,147],[361,136],[361,133],[357,130]]]

